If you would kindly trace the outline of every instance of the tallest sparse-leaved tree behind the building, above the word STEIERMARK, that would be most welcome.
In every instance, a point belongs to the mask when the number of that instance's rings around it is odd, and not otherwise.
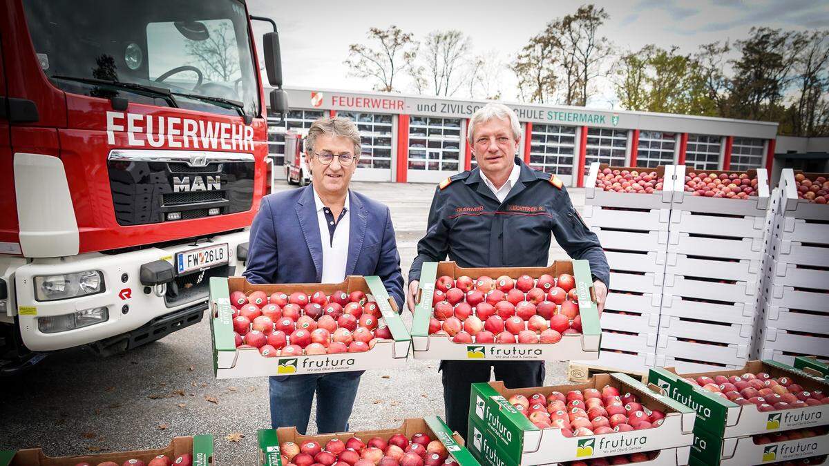
[[[608,64],[612,61],[608,59],[613,54],[613,46],[607,37],[599,36],[599,27],[609,17],[604,7],[584,5],[575,14],[567,15],[561,20],[561,47],[565,55],[572,54],[570,60],[565,62],[565,70],[574,71],[580,86],[580,95],[568,96],[569,104],[586,105],[591,95],[591,81],[609,72]],[[569,89],[568,92],[570,93]]]

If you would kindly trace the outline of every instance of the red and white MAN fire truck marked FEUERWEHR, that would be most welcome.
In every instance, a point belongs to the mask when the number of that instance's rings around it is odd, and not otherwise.
[[[265,194],[251,20],[284,113],[276,23],[240,0],[0,2],[0,374],[201,321]]]

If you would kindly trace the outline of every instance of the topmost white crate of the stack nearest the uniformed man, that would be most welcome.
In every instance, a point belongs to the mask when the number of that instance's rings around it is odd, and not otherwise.
[[[605,168],[611,170],[628,170],[637,172],[657,172],[657,177],[662,177],[662,190],[652,194],[633,192],[608,192],[596,188],[596,178],[599,172]],[[584,204],[590,206],[608,207],[632,207],[637,209],[661,209],[671,206],[671,191],[673,165],[660,165],[658,167],[611,167],[607,163],[594,162],[590,164],[587,178],[584,182]]]

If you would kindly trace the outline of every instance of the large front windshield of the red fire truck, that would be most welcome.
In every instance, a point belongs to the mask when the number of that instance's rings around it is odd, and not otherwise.
[[[23,4],[41,69],[66,92],[259,114],[258,66],[238,0]]]

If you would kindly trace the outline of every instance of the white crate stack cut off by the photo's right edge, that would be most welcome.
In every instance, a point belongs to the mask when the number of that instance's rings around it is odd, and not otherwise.
[[[829,205],[797,199],[798,173],[783,170],[776,190],[755,355],[785,364],[802,355],[829,360]]]

